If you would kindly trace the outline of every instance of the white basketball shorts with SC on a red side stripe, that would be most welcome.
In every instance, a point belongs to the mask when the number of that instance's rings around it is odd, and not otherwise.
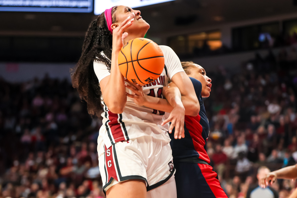
[[[110,148],[106,148],[102,140],[97,150],[104,192],[129,179],[144,180],[149,191],[164,184],[175,172],[172,151],[166,140],[142,136],[116,142]]]

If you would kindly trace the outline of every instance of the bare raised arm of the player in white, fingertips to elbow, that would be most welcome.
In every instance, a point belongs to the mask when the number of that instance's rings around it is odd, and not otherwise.
[[[133,23],[134,20],[134,18],[132,20],[129,19],[130,17],[124,20],[121,25],[113,30],[113,49],[111,55],[110,75],[99,82],[103,100],[112,113],[123,113],[127,102],[124,77],[121,74],[118,65],[118,55],[124,44],[124,39],[128,36],[127,32],[124,34],[123,32]]]

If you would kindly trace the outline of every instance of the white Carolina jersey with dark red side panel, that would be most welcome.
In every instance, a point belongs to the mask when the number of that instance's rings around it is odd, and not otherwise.
[[[164,45],[159,46],[164,54],[165,67],[158,79],[143,86],[143,92],[146,95],[162,98],[162,88],[167,86],[168,78],[178,72],[184,72],[178,56],[174,51]],[[94,71],[100,81],[110,75],[107,66],[104,63],[94,61]],[[132,94],[131,90],[126,88],[126,92]],[[151,136],[156,139],[170,141],[168,136],[169,124],[161,126],[165,120],[165,112],[154,110],[148,107],[139,106],[134,103],[132,98],[127,97],[127,103],[124,112],[121,114],[112,113],[101,96],[101,103],[104,107],[102,126],[99,130],[99,137],[103,138],[107,148],[119,141]]]

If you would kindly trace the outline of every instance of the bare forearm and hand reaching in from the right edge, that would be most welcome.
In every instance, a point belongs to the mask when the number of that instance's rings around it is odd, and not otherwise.
[[[269,184],[271,185],[276,179],[296,179],[296,178],[297,178],[297,164],[268,173],[265,177],[260,179],[260,184],[262,188],[265,188]]]

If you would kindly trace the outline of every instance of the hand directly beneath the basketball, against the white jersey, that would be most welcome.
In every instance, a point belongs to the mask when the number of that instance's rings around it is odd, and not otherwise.
[[[131,83],[128,80],[125,80],[125,81],[126,81],[125,86],[134,93],[134,94],[128,94],[126,92],[126,95],[130,98],[133,98],[136,104],[143,106],[144,102],[146,102],[147,96],[146,94],[143,93],[142,87],[136,83]]]

